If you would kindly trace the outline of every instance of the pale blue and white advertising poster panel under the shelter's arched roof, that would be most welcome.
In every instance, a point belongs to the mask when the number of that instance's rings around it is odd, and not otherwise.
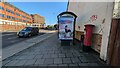
[[[74,18],[70,16],[59,18],[59,39],[73,40]]]

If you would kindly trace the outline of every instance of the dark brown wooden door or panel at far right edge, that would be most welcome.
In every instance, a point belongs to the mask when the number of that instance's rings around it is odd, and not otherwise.
[[[108,63],[113,66],[120,66],[120,19],[113,19],[109,48]]]

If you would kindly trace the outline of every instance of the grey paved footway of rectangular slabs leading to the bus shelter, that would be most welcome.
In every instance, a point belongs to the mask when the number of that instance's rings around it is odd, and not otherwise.
[[[107,66],[94,51],[86,53],[78,45],[61,46],[57,33],[4,59],[2,65],[2,68],[93,68],[99,66],[106,68]]]

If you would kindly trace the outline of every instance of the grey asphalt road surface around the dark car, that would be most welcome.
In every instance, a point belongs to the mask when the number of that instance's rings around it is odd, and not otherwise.
[[[43,34],[45,33],[39,33],[39,35],[43,35]],[[39,36],[39,35],[36,35],[36,36]],[[30,38],[34,38],[36,36],[32,36]],[[11,46],[13,44],[20,43],[30,38],[19,38],[17,36],[17,32],[3,32],[2,33],[2,48]]]

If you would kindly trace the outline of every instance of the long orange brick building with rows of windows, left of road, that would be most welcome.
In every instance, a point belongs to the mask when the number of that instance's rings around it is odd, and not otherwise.
[[[0,26],[1,31],[21,30],[32,23],[32,17],[28,13],[18,9],[8,2],[0,2]]]

